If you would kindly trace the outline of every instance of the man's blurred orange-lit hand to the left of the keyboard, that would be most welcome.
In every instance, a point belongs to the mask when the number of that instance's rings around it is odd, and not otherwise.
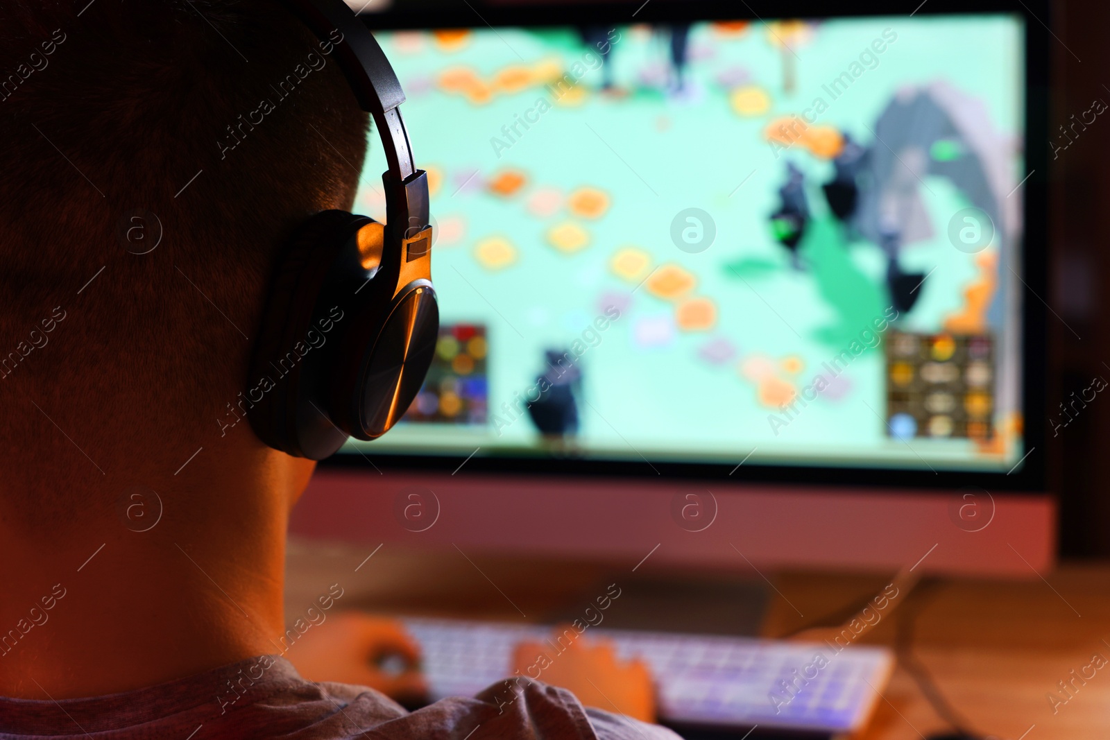
[[[427,693],[417,670],[420,649],[394,619],[331,615],[297,638],[285,657],[310,681],[369,686],[402,703],[420,703]]]

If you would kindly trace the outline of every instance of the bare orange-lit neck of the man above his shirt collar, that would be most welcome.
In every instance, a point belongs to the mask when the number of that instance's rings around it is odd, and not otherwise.
[[[279,652],[285,527],[312,467],[245,452],[105,479],[89,493],[103,516],[56,533],[0,516],[0,696],[101,696]]]

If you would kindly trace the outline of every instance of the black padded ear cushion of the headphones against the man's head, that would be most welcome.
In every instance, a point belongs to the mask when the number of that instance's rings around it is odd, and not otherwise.
[[[311,216],[293,234],[274,271],[252,354],[245,401],[259,438],[290,455],[320,459],[345,440],[331,422],[326,396],[310,387],[327,377],[331,353],[322,347],[332,338],[339,344],[339,337],[325,337],[316,348],[307,344],[306,335],[314,328],[322,293],[334,278],[332,273],[341,264],[344,246],[366,223],[370,219],[346,211],[323,211]],[[331,322],[327,325],[333,326]],[[307,425],[300,408],[304,398],[319,412],[319,418],[310,417]],[[334,448],[325,452],[332,445]]]

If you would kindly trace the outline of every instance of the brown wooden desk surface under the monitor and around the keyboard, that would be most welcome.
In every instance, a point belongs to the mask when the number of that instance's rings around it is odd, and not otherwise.
[[[642,592],[644,598],[624,601],[626,614],[619,617],[610,609],[620,620],[614,627],[657,627],[663,620],[682,631],[777,637],[861,606],[889,582],[874,576],[779,574],[771,579],[777,592],[769,591],[764,609],[754,596],[758,577],[653,572],[646,567],[632,572],[630,567],[612,564],[490,558],[454,549],[414,553],[391,546],[365,560],[372,550],[292,543],[285,596],[290,618],[339,582],[346,608],[552,621],[573,611],[574,605],[588,602],[592,589],[616,581],[625,594]],[[700,584],[700,592],[713,596],[692,598],[687,588],[677,600],[679,608],[647,608],[646,595],[658,592],[660,582],[689,588]],[[910,608],[912,597],[906,601]],[[1045,580],[945,582],[921,599],[914,610],[914,652],[975,729],[1001,740],[1110,737],[1110,662],[1101,669],[1092,666],[1096,655],[1099,662],[1110,660],[1110,565],[1064,565]],[[892,645],[894,616],[860,641]],[[649,619],[654,624],[645,621]],[[1079,673],[1088,666],[1087,676],[1093,671],[1093,678],[1074,680],[1078,689],[1069,688],[1068,699],[1059,682],[1071,681],[1070,671]],[[1048,698],[1052,693],[1061,700],[1054,708]],[[861,740],[915,740],[945,728],[899,667]]]

